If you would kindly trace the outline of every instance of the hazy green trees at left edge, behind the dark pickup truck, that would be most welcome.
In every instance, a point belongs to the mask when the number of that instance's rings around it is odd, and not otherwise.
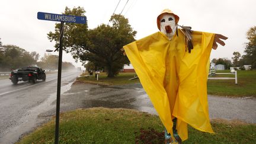
[[[10,71],[23,66],[36,65],[39,57],[39,54],[36,52],[29,53],[14,45],[1,46],[0,51],[1,71]]]

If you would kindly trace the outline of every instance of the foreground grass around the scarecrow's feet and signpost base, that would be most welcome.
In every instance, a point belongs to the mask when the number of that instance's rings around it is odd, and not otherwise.
[[[212,121],[215,134],[188,127],[184,143],[255,143],[256,126]],[[89,108],[60,114],[59,143],[164,143],[158,116],[136,110]],[[55,119],[23,137],[21,143],[54,143]]]

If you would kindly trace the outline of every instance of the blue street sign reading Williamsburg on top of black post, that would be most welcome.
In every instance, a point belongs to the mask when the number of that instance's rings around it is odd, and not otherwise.
[[[87,21],[86,17],[79,17],[75,15],[50,14],[46,12],[37,12],[37,19],[47,20],[47,21],[61,21],[66,23],[78,23],[78,24],[85,24]]]

